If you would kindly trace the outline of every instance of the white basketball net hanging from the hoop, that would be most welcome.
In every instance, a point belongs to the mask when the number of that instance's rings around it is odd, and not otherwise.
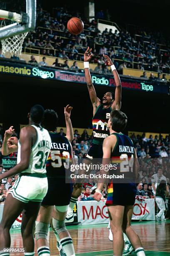
[[[5,19],[0,18],[0,28],[6,26]],[[7,56],[20,56],[23,42],[28,32],[1,40],[2,54]]]

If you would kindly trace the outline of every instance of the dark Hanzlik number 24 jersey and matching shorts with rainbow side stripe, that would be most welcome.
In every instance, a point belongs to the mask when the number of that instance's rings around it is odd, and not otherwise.
[[[106,205],[134,205],[136,195],[135,173],[133,173],[134,146],[131,139],[122,133],[112,133],[117,137],[117,143],[111,152],[111,163],[117,169],[109,174],[122,175],[124,179],[113,179],[107,187]]]

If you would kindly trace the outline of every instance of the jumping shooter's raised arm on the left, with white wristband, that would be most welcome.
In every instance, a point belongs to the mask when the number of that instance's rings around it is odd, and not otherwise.
[[[91,53],[92,49],[89,49],[89,47],[87,47],[87,50],[85,51],[84,54],[84,66],[85,66],[85,80],[87,83],[87,88],[89,91],[89,95],[90,95],[90,100],[92,102],[93,105],[93,114],[96,111],[96,108],[101,104],[99,98],[97,98],[96,92],[95,92],[95,87],[92,84],[92,78],[90,75],[90,71],[89,71],[89,64],[88,61],[90,61],[91,57],[92,57],[92,53]],[[85,64],[85,62],[87,62]]]

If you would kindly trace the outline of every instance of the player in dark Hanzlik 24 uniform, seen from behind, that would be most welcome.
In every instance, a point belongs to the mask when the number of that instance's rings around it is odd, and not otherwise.
[[[110,217],[110,228],[113,234],[114,255],[122,256],[124,248],[123,232],[125,232],[137,256],[145,256],[140,238],[130,225],[137,192],[134,182],[135,177],[137,177],[139,164],[133,142],[128,136],[121,133],[125,129],[126,124],[127,116],[120,110],[114,110],[110,113],[107,123],[110,136],[103,141],[102,164],[104,166],[105,164],[110,164],[110,160],[120,163],[117,165],[116,174],[125,174],[126,180],[124,184],[109,181],[106,205]],[[105,170],[101,169],[101,177],[104,173]],[[97,184],[94,194],[94,198],[97,201],[100,201],[102,198],[101,191],[104,183],[105,180],[100,179]]]

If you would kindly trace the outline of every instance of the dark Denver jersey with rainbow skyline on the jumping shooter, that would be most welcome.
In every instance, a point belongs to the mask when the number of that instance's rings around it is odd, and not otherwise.
[[[93,141],[92,143],[102,145],[103,140],[110,135],[107,129],[107,123],[110,118],[112,108],[104,108],[101,104],[98,106],[94,117],[92,118]]]

